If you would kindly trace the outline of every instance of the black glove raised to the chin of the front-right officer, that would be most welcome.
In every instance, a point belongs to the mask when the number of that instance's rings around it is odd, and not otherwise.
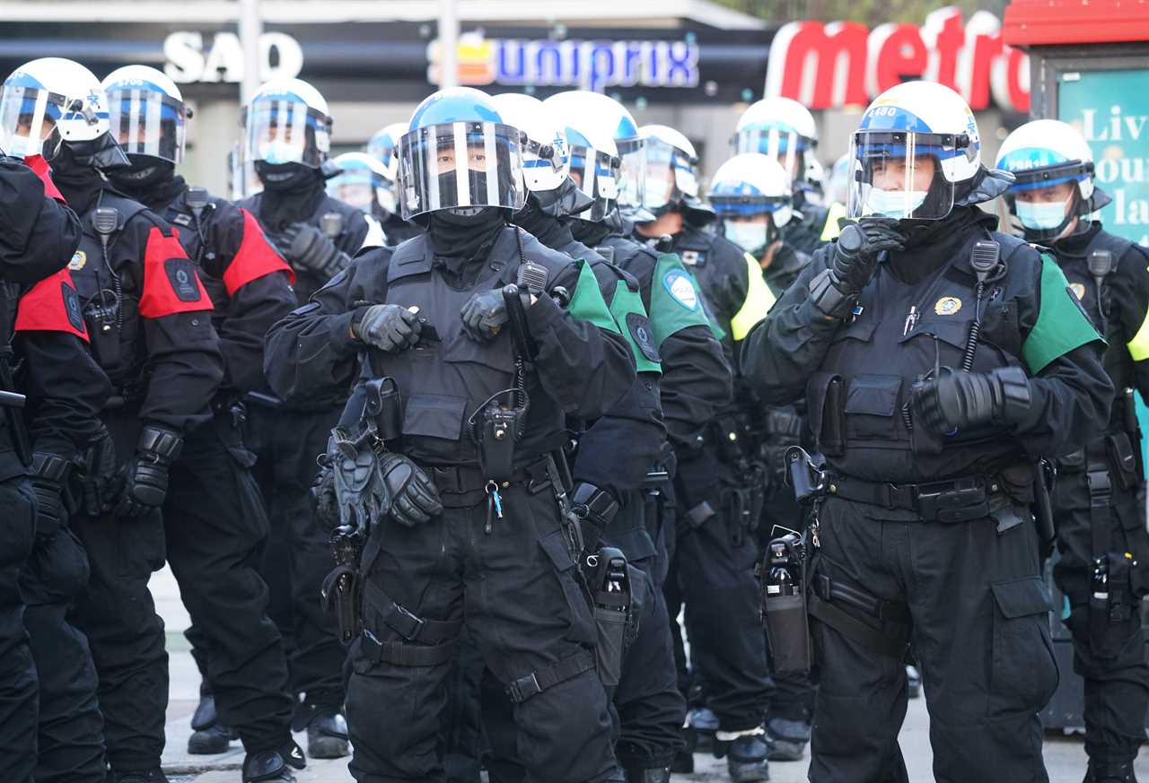
[[[842,228],[834,243],[834,261],[810,284],[810,299],[827,316],[843,317],[870,282],[884,250],[901,250],[905,239],[897,220],[864,217]]]

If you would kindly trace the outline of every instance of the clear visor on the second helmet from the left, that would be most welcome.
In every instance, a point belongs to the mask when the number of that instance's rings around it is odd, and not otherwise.
[[[187,113],[179,101],[153,90],[113,90],[108,92],[108,121],[129,155],[183,162]]]

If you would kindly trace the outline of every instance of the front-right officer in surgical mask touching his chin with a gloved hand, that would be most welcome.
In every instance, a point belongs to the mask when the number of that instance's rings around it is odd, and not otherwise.
[[[1057,667],[1034,463],[1105,420],[1102,343],[1052,258],[976,207],[1011,178],[981,165],[957,93],[892,87],[850,154],[858,222],[743,352],[765,402],[805,395],[825,455],[793,452],[791,471],[813,503],[810,780],[907,780],[912,643],[936,780],[1046,781],[1038,711]]]

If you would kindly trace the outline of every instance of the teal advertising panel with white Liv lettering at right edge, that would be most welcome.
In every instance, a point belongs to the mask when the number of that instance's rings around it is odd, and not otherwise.
[[[1106,231],[1149,247],[1149,69],[1061,73],[1057,114],[1093,148]]]

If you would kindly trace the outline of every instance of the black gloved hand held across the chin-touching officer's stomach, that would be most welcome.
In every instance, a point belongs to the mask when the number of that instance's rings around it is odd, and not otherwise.
[[[1008,426],[1025,417],[1031,398],[1021,367],[947,372],[915,386],[913,425],[939,435],[987,424]]]

